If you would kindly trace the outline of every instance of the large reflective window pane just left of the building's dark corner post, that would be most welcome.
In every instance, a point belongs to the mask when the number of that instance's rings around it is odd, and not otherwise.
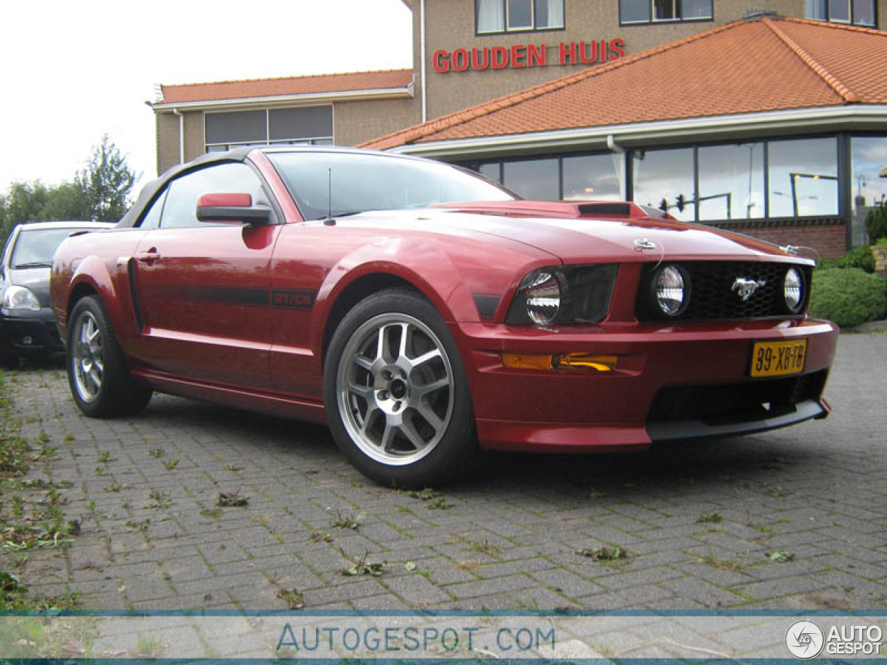
[[[838,214],[836,138],[773,141],[768,149],[771,217]]]

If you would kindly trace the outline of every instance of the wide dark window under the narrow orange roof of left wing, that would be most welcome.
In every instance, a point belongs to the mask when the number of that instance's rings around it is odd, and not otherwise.
[[[243,145],[333,145],[333,107],[205,113],[206,151]]]

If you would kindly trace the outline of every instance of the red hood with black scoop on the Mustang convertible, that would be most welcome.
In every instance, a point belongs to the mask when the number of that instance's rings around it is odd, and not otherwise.
[[[421,211],[371,212],[355,223],[446,232],[459,229],[516,240],[565,263],[645,262],[666,259],[797,262],[780,247],[712,227],[648,216],[634,204],[497,201],[454,204]],[[605,214],[600,214],[600,211]],[[384,220],[384,222],[383,222]],[[637,243],[637,244],[636,244]],[[643,246],[638,246],[643,245]]]

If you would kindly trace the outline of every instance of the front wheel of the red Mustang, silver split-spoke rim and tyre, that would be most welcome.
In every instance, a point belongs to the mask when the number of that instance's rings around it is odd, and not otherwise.
[[[443,318],[415,293],[377,293],[342,319],[326,357],[324,398],[339,448],[374,481],[431,486],[475,464],[459,351]]]

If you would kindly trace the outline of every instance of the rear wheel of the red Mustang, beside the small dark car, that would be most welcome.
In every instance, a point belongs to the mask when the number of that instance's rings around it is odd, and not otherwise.
[[[131,416],[151,390],[130,376],[114,328],[98,296],[77,301],[67,331],[67,379],[74,401],[90,418]]]

